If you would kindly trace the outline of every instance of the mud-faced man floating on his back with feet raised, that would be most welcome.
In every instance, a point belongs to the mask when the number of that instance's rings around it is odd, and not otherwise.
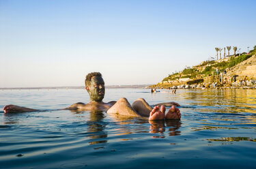
[[[180,110],[175,107],[180,106],[180,104],[177,104],[175,102],[156,104],[154,108],[147,104],[147,102],[143,98],[135,100],[132,106],[124,97],[119,99],[117,102],[102,102],[102,99],[104,98],[105,94],[105,87],[104,80],[99,72],[91,72],[87,74],[85,79],[85,89],[89,93],[90,97],[90,102],[88,104],[83,104],[79,102],[76,104],[72,104],[68,108],[63,108],[59,110],[106,110],[106,113],[108,114],[121,114],[130,117],[149,117],[149,120],[181,118]],[[172,106],[167,112],[167,114],[165,114],[165,106]],[[3,110],[5,113],[47,111],[37,110],[33,108],[25,108],[12,104],[5,106]]]

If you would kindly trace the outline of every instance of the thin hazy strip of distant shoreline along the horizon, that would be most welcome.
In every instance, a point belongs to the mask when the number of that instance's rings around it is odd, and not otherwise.
[[[106,89],[128,89],[128,88],[145,88],[149,87],[152,84],[134,84],[134,85],[109,85],[106,86]],[[84,86],[81,87],[3,87],[0,90],[26,90],[26,89],[84,89]]]

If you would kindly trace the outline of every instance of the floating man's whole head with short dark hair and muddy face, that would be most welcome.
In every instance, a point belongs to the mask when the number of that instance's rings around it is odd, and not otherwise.
[[[100,72],[91,72],[85,78],[85,89],[91,101],[102,102],[105,95],[104,80]]]

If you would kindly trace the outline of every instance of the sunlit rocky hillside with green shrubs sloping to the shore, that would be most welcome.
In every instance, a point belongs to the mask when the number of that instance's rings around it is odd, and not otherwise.
[[[256,46],[248,55],[233,55],[225,59],[203,61],[199,65],[186,67],[182,72],[170,74],[162,82],[150,87],[169,88],[181,84],[209,86],[214,82],[218,86],[231,86],[237,80],[239,80],[238,82],[242,80],[253,80],[254,82],[256,80]]]

